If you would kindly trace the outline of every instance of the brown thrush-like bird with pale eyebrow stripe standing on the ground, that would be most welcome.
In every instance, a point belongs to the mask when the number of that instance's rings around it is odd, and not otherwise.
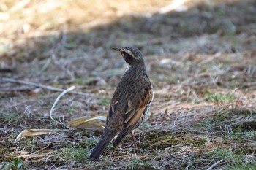
[[[127,69],[113,93],[106,125],[90,161],[97,161],[108,144],[114,139],[113,147],[118,146],[132,131],[143,122],[153,100],[154,92],[146,73],[143,54],[137,47],[111,47],[122,55]]]

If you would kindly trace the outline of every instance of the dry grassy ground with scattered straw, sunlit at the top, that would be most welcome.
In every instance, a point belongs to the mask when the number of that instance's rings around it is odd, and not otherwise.
[[[1,1],[0,169],[255,169],[255,16],[252,0]],[[154,101],[138,150],[128,136],[89,162],[102,128],[67,122],[108,112],[126,68],[111,46],[143,52]],[[59,131],[14,142],[25,129]]]

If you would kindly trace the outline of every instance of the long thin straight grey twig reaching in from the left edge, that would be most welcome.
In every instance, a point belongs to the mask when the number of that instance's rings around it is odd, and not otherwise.
[[[35,83],[35,82],[27,82],[27,81],[24,81],[24,80],[15,80],[15,79],[6,78],[6,77],[1,77],[0,81],[16,82],[16,83],[20,83],[20,84],[23,84],[23,85],[32,85],[32,86],[35,86],[35,87],[45,88],[47,90],[53,90],[53,91],[61,91],[61,92],[64,91],[64,89],[62,89],[62,88],[54,88],[54,87],[49,86],[49,85],[41,85],[41,84],[38,84],[38,83]],[[76,91],[70,91],[69,93],[79,94],[79,95],[83,95],[83,96],[92,96],[93,95],[93,94],[89,94],[89,93],[82,93],[82,92],[76,92]]]

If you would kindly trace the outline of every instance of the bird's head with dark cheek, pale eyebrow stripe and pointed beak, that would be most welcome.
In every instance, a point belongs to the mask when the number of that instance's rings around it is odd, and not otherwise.
[[[143,55],[140,50],[136,47],[111,47],[113,50],[118,51],[123,56],[125,62],[132,65],[143,65]]]

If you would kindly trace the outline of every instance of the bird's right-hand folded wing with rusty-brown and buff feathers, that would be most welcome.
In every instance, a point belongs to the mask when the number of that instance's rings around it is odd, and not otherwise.
[[[148,108],[148,104],[150,104],[152,96],[153,91],[151,90],[151,82],[146,79],[142,93],[140,93],[139,96],[132,94],[131,100],[127,101],[127,109],[126,112],[124,112],[123,128],[118,134],[113,146],[118,145],[122,139],[124,139],[124,137],[138,125]]]

